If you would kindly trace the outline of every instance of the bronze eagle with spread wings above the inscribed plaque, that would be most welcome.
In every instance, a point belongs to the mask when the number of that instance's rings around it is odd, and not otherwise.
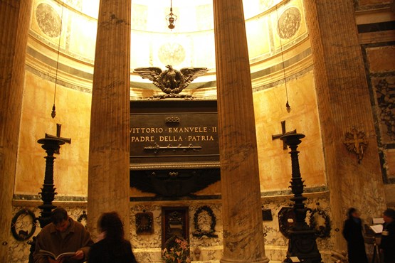
[[[162,71],[157,67],[135,68],[133,73],[139,74],[144,79],[151,80],[155,86],[169,95],[179,94],[188,87],[196,77],[200,77],[207,71],[207,68],[181,68],[174,70],[172,65],[166,66],[167,70]]]

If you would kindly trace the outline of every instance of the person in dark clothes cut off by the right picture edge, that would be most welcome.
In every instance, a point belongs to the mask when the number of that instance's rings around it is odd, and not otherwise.
[[[385,210],[383,218],[380,251],[384,256],[384,263],[395,263],[395,210]]]

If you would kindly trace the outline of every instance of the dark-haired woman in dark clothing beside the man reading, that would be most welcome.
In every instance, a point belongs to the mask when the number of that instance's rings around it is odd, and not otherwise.
[[[125,240],[120,216],[116,212],[103,213],[98,221],[102,240],[90,247],[89,263],[137,263],[132,246]]]

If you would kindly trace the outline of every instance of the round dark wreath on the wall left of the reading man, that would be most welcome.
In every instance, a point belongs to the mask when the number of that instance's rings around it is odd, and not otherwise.
[[[18,241],[28,240],[36,231],[36,222],[36,215],[31,210],[27,208],[19,210],[11,220],[13,237]]]

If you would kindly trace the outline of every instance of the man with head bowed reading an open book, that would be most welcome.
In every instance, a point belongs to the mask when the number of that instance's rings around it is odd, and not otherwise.
[[[81,263],[86,260],[91,245],[88,230],[70,218],[66,210],[56,208],[51,224],[37,235],[34,263]]]

